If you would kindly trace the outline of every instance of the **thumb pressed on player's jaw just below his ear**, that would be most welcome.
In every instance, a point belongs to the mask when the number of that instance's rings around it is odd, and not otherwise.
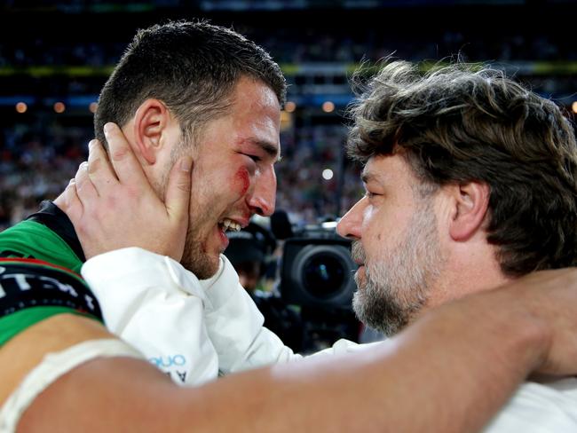
[[[169,184],[164,200],[170,219],[182,221],[183,224],[188,221],[192,171],[193,158],[191,156],[183,156],[174,164],[170,169]]]

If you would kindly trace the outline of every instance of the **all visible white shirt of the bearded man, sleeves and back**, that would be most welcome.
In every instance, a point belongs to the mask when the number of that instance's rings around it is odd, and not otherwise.
[[[225,256],[217,274],[206,280],[140,248],[93,257],[82,274],[108,329],[180,384],[301,358],[263,327],[262,314]],[[320,353],[368,346],[341,340]],[[577,379],[522,384],[484,431],[577,431]]]

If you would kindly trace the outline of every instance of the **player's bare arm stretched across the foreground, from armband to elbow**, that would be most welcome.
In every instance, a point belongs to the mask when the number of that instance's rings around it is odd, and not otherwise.
[[[37,398],[22,426],[474,431],[541,362],[546,345],[526,312],[495,309],[495,300],[481,295],[443,307],[392,345],[233,374],[197,389],[172,386],[144,362],[99,359]]]

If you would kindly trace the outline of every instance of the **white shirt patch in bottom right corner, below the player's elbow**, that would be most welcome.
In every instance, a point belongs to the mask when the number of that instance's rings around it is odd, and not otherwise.
[[[483,430],[485,433],[577,431],[577,379],[525,382]]]

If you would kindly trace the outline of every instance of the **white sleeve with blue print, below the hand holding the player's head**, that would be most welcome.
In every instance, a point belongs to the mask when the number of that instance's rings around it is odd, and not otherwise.
[[[123,248],[92,257],[83,278],[99,300],[107,328],[140,350],[178,384],[215,379],[198,279],[169,257]]]

